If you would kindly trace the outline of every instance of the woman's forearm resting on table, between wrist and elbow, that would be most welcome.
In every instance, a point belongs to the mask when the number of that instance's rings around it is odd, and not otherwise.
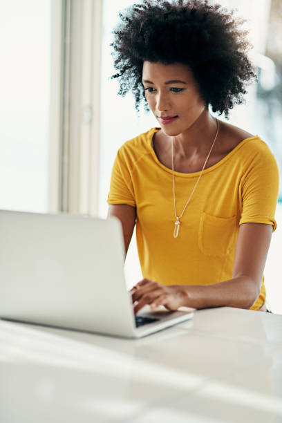
[[[259,296],[258,287],[248,276],[238,276],[211,285],[182,285],[183,306],[250,308]]]

